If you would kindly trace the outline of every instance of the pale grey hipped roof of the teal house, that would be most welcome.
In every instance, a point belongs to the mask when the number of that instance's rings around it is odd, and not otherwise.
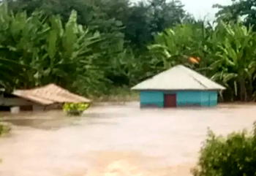
[[[225,87],[183,65],[174,66],[148,80],[135,85],[132,90],[224,90]]]

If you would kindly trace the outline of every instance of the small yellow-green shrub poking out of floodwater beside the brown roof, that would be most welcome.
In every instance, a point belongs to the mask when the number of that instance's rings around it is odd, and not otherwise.
[[[64,112],[67,112],[67,115],[81,115],[83,111],[89,108],[89,103],[65,103],[63,106]]]

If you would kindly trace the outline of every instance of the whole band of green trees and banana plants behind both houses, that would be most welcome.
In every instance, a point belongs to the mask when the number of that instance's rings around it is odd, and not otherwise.
[[[102,96],[185,64],[225,85],[225,101],[253,101],[255,3],[217,7],[211,26],[180,1],[4,1],[0,85],[12,91],[56,83]]]

